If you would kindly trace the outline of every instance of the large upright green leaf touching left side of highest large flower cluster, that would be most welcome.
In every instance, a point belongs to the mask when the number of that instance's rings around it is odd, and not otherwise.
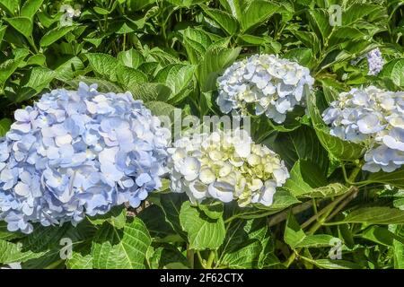
[[[233,64],[240,51],[241,48],[212,48],[206,51],[205,57],[197,69],[201,91],[215,90],[216,78],[228,65]]]

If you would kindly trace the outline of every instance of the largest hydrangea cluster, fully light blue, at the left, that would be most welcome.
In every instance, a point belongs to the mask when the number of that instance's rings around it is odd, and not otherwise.
[[[169,131],[129,92],[96,88],[51,91],[15,111],[0,141],[0,219],[8,230],[137,207],[162,186]]]

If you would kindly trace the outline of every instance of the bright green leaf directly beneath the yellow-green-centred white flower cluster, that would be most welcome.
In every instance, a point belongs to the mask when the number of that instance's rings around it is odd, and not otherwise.
[[[211,219],[185,202],[181,206],[180,224],[187,231],[189,248],[204,250],[219,248],[224,242],[225,228],[223,218]]]

